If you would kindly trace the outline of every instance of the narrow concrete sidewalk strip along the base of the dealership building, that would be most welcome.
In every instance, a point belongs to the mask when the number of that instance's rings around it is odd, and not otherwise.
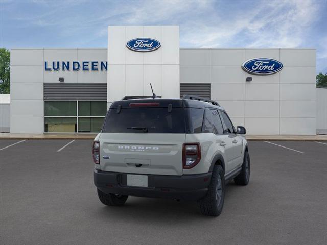
[[[0,133],[0,139],[94,139],[97,134],[10,134]],[[327,141],[327,135],[246,135],[247,140]]]

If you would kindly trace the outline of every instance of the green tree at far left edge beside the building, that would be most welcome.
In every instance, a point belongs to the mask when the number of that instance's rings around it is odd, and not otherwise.
[[[10,52],[0,48],[0,93],[10,93]]]

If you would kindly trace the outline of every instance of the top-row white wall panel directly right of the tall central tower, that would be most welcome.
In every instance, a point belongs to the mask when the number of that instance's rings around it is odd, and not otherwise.
[[[180,66],[210,66],[210,50],[181,49]]]

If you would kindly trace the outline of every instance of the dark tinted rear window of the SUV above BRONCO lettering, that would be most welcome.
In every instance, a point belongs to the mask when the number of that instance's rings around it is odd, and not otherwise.
[[[185,133],[183,108],[122,108],[110,109],[105,119],[104,133]],[[132,129],[134,127],[134,129]]]

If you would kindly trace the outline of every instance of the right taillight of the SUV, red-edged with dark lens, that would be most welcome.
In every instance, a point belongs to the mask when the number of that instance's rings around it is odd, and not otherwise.
[[[192,168],[201,159],[200,143],[183,144],[183,168]]]

